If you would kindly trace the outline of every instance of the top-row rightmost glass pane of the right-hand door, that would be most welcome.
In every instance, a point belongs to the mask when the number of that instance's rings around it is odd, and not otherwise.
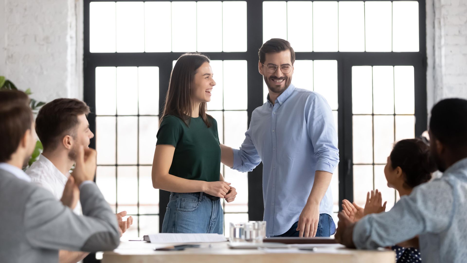
[[[396,114],[415,114],[413,66],[394,66],[394,95]]]

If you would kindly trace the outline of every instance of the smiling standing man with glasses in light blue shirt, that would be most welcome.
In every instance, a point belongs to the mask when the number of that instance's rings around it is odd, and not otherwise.
[[[266,236],[330,236],[337,132],[325,98],[291,84],[294,62],[288,41],[273,38],[262,45],[258,67],[268,102],[253,111],[239,150],[221,145],[221,161],[241,172],[263,162]]]

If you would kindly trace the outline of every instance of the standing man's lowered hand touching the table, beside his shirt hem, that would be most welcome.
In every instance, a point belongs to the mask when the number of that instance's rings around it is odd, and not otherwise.
[[[309,205],[308,203],[302,210],[298,218],[297,231],[299,237],[315,237],[319,223],[319,204]]]

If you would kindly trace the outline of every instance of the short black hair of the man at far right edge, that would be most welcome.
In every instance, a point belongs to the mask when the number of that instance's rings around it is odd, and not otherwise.
[[[430,130],[455,153],[467,149],[467,100],[445,99],[433,106]],[[432,139],[432,138],[430,138]]]

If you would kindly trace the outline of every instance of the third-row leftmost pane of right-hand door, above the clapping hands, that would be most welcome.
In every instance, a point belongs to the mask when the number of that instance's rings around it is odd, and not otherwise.
[[[354,165],[354,202],[365,207],[368,191],[373,190],[373,165]]]

